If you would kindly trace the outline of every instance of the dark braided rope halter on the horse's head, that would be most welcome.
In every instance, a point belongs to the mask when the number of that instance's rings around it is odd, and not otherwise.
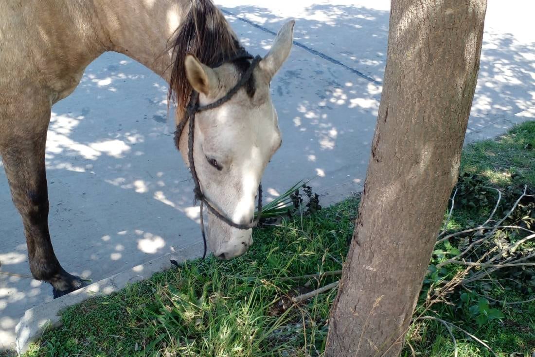
[[[206,244],[206,236],[204,234],[204,222],[203,222],[203,205],[206,205],[208,210],[215,215],[218,219],[225,222],[231,227],[237,228],[237,229],[251,229],[257,226],[258,221],[260,219],[260,214],[262,213],[262,184],[258,186],[258,215],[256,216],[256,219],[248,224],[240,224],[235,223],[232,219],[228,218],[226,215],[219,212],[213,205],[210,203],[210,200],[204,196],[204,193],[201,190],[201,184],[199,182],[198,176],[197,176],[197,170],[195,169],[195,162],[193,160],[193,142],[195,137],[195,114],[198,112],[203,112],[206,110],[211,110],[213,108],[217,108],[218,106],[228,102],[237,92],[238,90],[243,87],[243,84],[245,84],[251,75],[253,74],[253,70],[255,69],[255,66],[258,64],[258,62],[262,59],[260,56],[253,57],[249,55],[249,53],[245,50],[241,50],[236,56],[228,58],[224,61],[221,61],[221,63],[213,66],[212,68],[219,67],[220,65],[227,63],[227,62],[233,62],[238,59],[253,59],[251,61],[251,65],[249,68],[247,68],[247,71],[245,71],[241,77],[238,83],[230,90],[228,93],[221,97],[220,99],[216,100],[215,102],[201,106],[199,104],[199,94],[194,89],[192,90],[192,94],[189,98],[189,103],[186,106],[186,113],[184,115],[184,119],[177,125],[177,130],[174,133],[174,141],[175,145],[177,146],[177,149],[179,149],[179,141],[180,141],[180,135],[182,134],[182,131],[184,131],[184,128],[186,127],[186,123],[189,121],[189,134],[188,134],[188,161],[189,161],[189,169],[192,173],[193,183],[195,184],[195,188],[193,189],[193,192],[195,194],[195,200],[201,201],[200,209],[201,209],[201,232],[202,232],[202,239],[204,243],[204,253],[202,255],[202,259],[206,257],[207,252],[207,244]]]

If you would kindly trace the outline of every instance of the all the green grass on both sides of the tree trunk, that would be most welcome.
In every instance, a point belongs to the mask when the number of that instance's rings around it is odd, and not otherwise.
[[[494,141],[469,145],[463,152],[462,170],[502,190],[519,183],[535,188],[534,140],[535,122],[528,122]],[[46,331],[26,356],[320,355],[336,290],[299,304],[292,303],[291,297],[338,277],[299,281],[285,277],[341,269],[357,207],[358,196],[354,196],[312,215],[257,229],[254,246],[238,259],[190,261],[109,297],[69,307],[62,315],[63,327]],[[447,230],[474,227],[491,211],[492,205],[456,208]],[[517,239],[514,232],[507,234],[507,239]],[[456,244],[452,240],[438,248],[447,255]],[[431,266],[446,258],[434,254]],[[507,270],[511,276],[477,282],[471,292],[456,288],[426,308],[426,294],[433,291],[433,284],[439,279],[453,281],[462,268],[447,265],[426,277],[415,316],[453,323],[482,339],[500,357],[531,356],[535,302],[505,305],[490,300],[510,302],[531,296],[526,286],[508,283],[519,269]],[[452,333],[459,356],[493,355],[460,330],[453,328]],[[402,356],[453,356],[454,350],[444,324],[418,320],[411,325]]]

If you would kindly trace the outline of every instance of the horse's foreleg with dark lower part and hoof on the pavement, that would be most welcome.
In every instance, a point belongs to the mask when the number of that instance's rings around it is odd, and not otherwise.
[[[2,118],[0,118],[2,119]],[[54,298],[85,284],[59,264],[48,230],[48,187],[44,152],[50,110],[40,118],[4,125],[0,120],[0,154],[13,203],[17,207],[28,246],[30,271],[36,280],[52,285]]]

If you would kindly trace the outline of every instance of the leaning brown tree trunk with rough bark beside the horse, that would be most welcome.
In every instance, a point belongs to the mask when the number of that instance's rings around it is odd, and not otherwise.
[[[326,356],[397,356],[457,178],[486,0],[392,0],[360,214]]]

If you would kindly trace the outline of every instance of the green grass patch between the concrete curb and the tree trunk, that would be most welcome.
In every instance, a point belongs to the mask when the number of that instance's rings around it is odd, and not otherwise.
[[[238,259],[191,261],[67,308],[63,327],[45,332],[26,355],[315,355],[336,291],[303,306],[289,296],[333,278],[308,288],[281,278],[341,269],[357,206],[354,197],[302,224],[256,230],[255,249]]]

